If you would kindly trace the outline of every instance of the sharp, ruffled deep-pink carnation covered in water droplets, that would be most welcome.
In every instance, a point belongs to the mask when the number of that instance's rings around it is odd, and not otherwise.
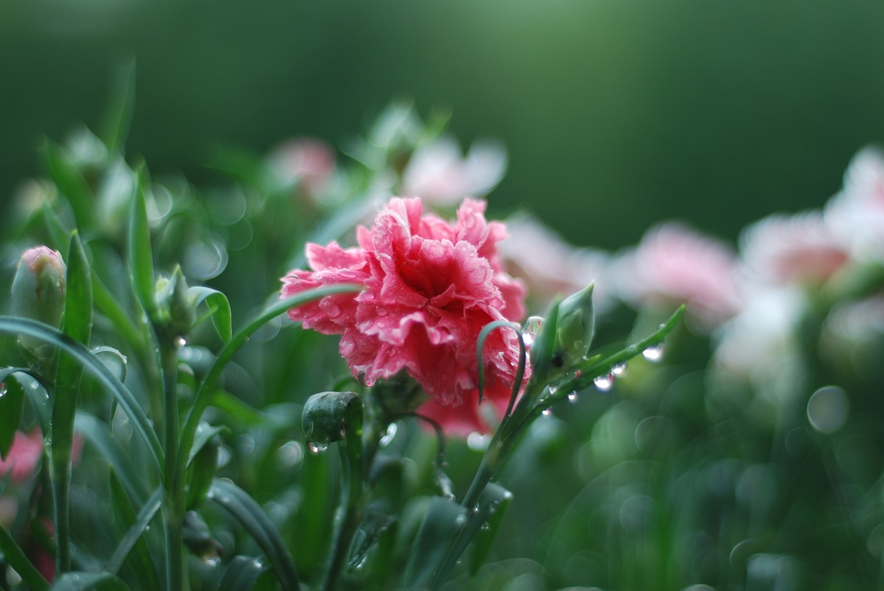
[[[503,224],[484,218],[483,201],[466,200],[452,222],[422,215],[420,199],[393,198],[374,227],[360,227],[359,246],[309,244],[311,270],[294,269],[282,296],[321,285],[358,283],[358,296],[326,296],[294,308],[305,328],[340,334],[340,352],[371,385],[400,371],[431,401],[420,413],[448,431],[487,431],[479,413],[476,340],[489,322],[522,318],[524,287],[503,271],[497,243]],[[495,330],[484,345],[485,397],[506,407],[519,359],[512,330]]]

